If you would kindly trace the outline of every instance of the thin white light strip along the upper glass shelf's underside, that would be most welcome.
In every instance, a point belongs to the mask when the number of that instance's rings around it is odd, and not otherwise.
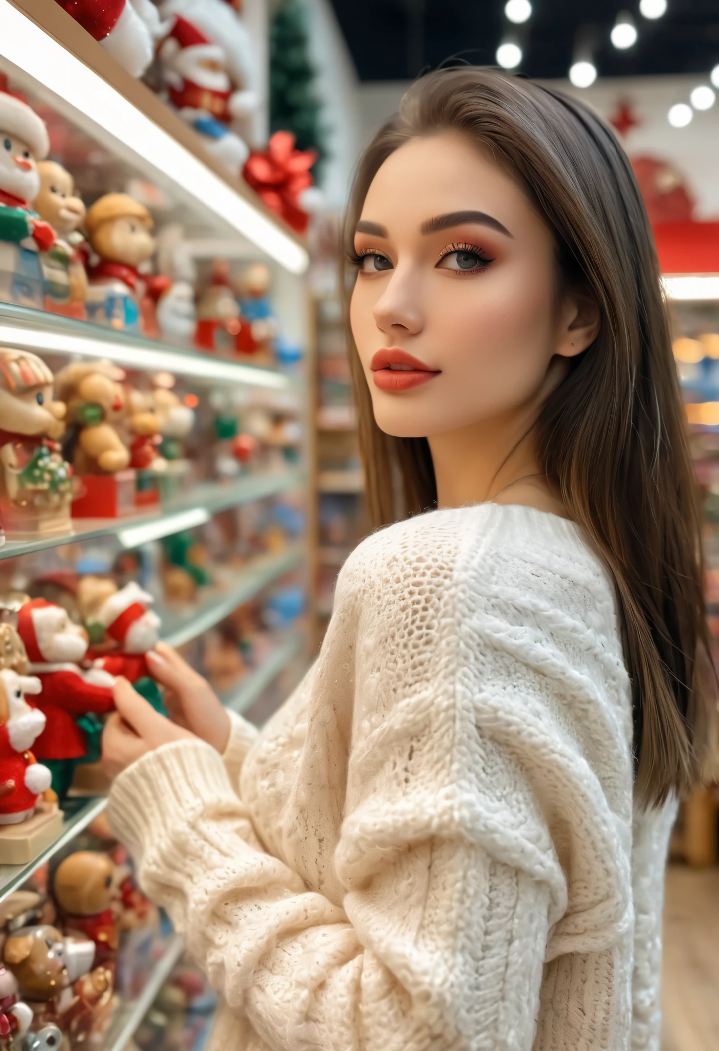
[[[174,372],[181,376],[197,376],[203,379],[221,379],[225,383],[248,384],[285,390],[290,380],[281,372],[259,369],[251,365],[225,362],[209,355],[173,353],[155,347],[130,347],[107,339],[88,336],[65,335],[48,329],[16,328],[0,323],[0,345],[22,350],[46,351],[53,354],[82,354],[86,357],[110,357],[116,365],[126,365],[131,369],[152,369],[157,372]]]

